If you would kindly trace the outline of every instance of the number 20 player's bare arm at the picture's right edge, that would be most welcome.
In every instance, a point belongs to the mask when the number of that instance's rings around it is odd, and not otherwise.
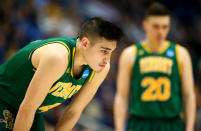
[[[196,106],[192,62],[188,51],[184,47],[178,46],[178,54],[181,61],[181,83],[186,131],[193,131]]]

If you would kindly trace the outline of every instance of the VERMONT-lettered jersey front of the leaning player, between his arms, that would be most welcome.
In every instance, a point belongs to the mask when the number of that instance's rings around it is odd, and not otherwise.
[[[45,98],[37,112],[45,112],[51,108],[60,105],[65,100],[75,95],[84,86],[85,83],[92,79],[94,71],[88,65],[84,66],[80,78],[74,77],[73,67],[75,47],[70,49],[70,55],[70,61],[66,72],[50,88],[47,97]]]

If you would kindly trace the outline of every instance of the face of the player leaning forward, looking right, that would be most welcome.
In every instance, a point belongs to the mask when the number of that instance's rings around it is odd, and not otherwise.
[[[84,57],[88,65],[96,72],[103,70],[106,64],[110,62],[111,54],[116,48],[116,43],[116,41],[101,38],[97,42],[94,41],[93,44],[90,44],[84,51]]]

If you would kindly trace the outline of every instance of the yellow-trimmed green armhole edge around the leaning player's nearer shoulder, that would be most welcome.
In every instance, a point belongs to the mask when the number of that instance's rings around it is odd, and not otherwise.
[[[40,47],[42,47],[42,46],[45,46],[45,45],[48,45],[48,44],[62,44],[62,45],[64,45],[66,48],[67,48],[67,50],[68,50],[68,65],[69,65],[69,62],[70,62],[70,56],[71,56],[71,52],[70,52],[70,49],[69,49],[69,47],[64,43],[64,42],[62,42],[62,41],[51,41],[51,42],[47,42],[47,43],[44,43],[44,44],[42,44],[42,45],[40,45],[40,46],[38,46],[38,47],[36,47],[36,48],[34,48],[30,53],[29,53],[29,60],[30,60],[30,62],[31,62],[31,65],[32,65],[32,70],[34,71],[34,72],[36,72],[36,68],[33,66],[33,64],[32,64],[32,61],[31,61],[31,59],[32,59],[32,55],[33,55],[33,53],[34,53],[34,51],[35,50],[37,50],[37,49],[39,49]],[[68,69],[68,66],[67,66],[67,69]],[[67,70],[66,69],[66,70]]]

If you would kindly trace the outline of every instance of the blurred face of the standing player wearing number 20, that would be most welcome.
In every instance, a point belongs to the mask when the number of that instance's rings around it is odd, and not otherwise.
[[[143,23],[147,38],[157,43],[166,39],[169,26],[169,16],[149,16]]]

